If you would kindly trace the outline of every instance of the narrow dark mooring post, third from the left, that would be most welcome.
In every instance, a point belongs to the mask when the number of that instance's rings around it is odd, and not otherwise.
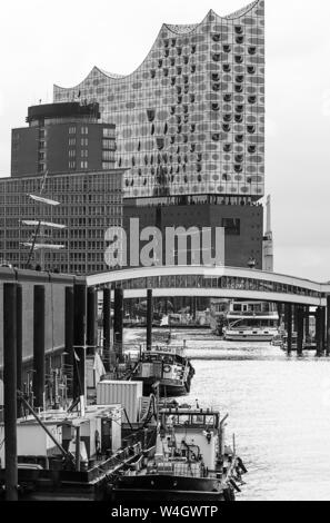
[[[66,287],[64,303],[64,372],[68,383],[68,395],[73,393],[73,287]]]

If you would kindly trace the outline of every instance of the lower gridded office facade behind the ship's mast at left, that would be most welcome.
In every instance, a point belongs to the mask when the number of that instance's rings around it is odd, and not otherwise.
[[[44,220],[64,225],[62,230],[47,229],[51,243],[64,245],[59,251],[44,251],[44,268],[60,273],[91,274],[107,269],[103,257],[104,233],[122,225],[121,169],[99,172],[52,175],[47,178],[43,197],[60,203],[53,207],[33,201],[42,178],[0,179],[0,258],[24,268],[34,227],[22,220]],[[38,263],[38,254],[31,260]]]

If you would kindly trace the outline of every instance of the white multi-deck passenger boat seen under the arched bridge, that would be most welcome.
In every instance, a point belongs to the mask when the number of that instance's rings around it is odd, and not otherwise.
[[[274,304],[232,302],[223,328],[228,342],[271,342],[279,335],[279,314]]]

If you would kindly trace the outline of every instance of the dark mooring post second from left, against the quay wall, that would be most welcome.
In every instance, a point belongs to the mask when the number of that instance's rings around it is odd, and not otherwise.
[[[44,405],[44,286],[33,288],[33,405]]]

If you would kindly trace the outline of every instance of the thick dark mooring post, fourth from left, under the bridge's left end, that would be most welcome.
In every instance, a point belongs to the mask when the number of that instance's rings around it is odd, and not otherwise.
[[[73,287],[73,398],[86,396],[86,285]]]

